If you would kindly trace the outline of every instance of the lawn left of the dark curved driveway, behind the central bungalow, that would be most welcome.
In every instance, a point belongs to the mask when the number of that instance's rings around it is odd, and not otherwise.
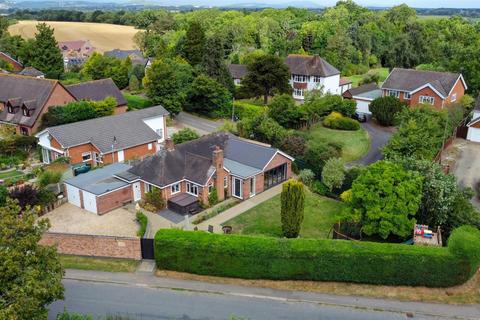
[[[333,130],[318,123],[306,134],[307,144],[316,141],[334,142],[342,146],[342,159],[346,162],[358,160],[368,153],[370,138],[365,129],[357,131]]]

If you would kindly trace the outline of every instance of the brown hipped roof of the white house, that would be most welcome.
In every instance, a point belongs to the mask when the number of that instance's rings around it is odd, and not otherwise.
[[[292,74],[320,77],[340,74],[337,68],[318,55],[289,54],[285,59],[285,64],[290,68]]]

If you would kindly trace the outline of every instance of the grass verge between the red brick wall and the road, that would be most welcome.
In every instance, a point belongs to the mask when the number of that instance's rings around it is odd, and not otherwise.
[[[60,255],[65,269],[98,270],[107,272],[135,272],[140,261],[130,259],[81,257]]]

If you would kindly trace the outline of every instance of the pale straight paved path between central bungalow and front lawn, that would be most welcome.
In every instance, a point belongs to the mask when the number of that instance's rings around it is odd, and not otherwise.
[[[219,215],[200,223],[199,225],[197,225],[197,227],[199,230],[208,230],[208,226],[211,225],[213,226],[213,232],[222,233],[223,223],[227,222],[230,219],[235,218],[238,215],[241,215],[245,211],[259,205],[260,203],[275,197],[277,194],[280,194],[281,192],[282,192],[282,185],[279,184],[262,193],[259,193],[253,198],[240,202],[236,206],[220,213]]]

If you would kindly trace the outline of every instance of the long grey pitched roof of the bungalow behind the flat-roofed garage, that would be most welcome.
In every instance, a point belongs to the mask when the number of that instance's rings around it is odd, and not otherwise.
[[[168,111],[162,106],[155,106],[49,127],[38,133],[37,137],[48,133],[63,148],[92,143],[101,153],[106,154],[157,141],[161,137],[144,120],[167,114]]]

